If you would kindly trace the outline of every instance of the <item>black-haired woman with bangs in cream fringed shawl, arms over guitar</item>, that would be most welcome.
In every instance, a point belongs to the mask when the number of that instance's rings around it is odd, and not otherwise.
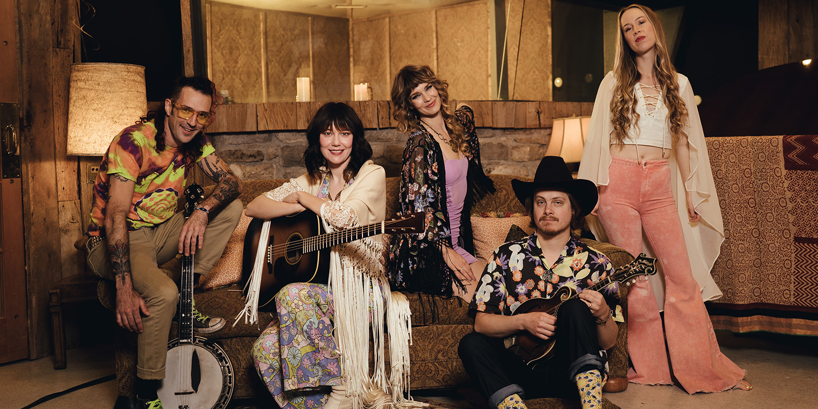
[[[311,211],[329,231],[383,221],[384,169],[369,160],[372,148],[355,111],[342,102],[321,106],[307,128],[307,141],[307,173],[258,196],[245,213],[278,218]],[[335,245],[329,283],[294,283],[276,294],[278,319],[256,341],[253,358],[281,407],[360,407],[370,401],[367,397],[383,396],[386,382],[371,379],[367,362],[369,322],[383,331],[384,308],[391,299],[383,245],[380,236],[375,239]],[[393,330],[406,332],[407,327],[389,330],[391,338]],[[380,351],[377,339],[375,345],[377,358],[383,345]]]

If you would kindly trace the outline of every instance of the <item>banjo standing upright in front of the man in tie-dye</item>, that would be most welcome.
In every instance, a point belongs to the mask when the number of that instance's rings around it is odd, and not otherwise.
[[[192,184],[185,196],[185,213],[190,216],[204,192]],[[222,347],[193,335],[193,255],[182,256],[179,334],[168,343],[165,378],[156,393],[162,406],[169,409],[224,409],[234,382],[233,366]]]

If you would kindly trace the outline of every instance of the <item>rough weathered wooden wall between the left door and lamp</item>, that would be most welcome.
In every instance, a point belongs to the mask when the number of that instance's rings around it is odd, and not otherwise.
[[[80,272],[73,247],[83,234],[78,160],[65,155],[69,65],[74,62],[76,2],[25,0],[20,11],[21,159],[25,222],[29,357],[52,348],[48,290]]]

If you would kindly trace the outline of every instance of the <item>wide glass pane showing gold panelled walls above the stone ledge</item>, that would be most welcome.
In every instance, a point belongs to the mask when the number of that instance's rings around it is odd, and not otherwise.
[[[201,1],[228,101],[296,101],[297,78],[312,101],[353,100],[356,84],[389,100],[407,64],[431,66],[455,100],[551,100],[551,0]]]

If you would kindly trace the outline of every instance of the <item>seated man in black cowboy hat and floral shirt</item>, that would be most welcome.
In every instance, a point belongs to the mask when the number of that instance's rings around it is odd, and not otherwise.
[[[480,277],[471,308],[474,331],[461,339],[466,372],[492,407],[524,408],[524,398],[580,398],[600,407],[605,349],[616,343],[613,309],[594,290],[583,290],[613,272],[610,260],[571,235],[596,206],[593,182],[574,180],[562,158],[542,158],[533,182],[511,181],[535,232],[494,251]],[[512,315],[525,301],[550,298],[569,286],[577,290],[554,315]],[[522,310],[521,310],[522,311]],[[506,349],[504,339],[528,331],[555,339],[551,359],[533,368]]]

